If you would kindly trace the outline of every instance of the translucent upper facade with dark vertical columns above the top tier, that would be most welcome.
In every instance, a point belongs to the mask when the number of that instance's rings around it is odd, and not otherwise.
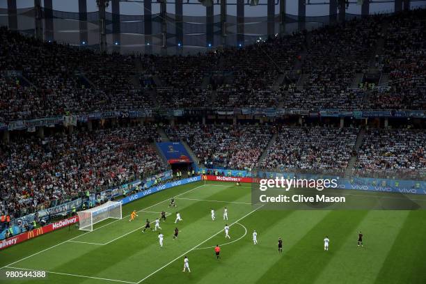
[[[250,0],[216,0],[210,7],[198,0],[107,2],[102,13],[97,0],[1,1],[0,26],[34,35],[38,31],[45,40],[71,45],[174,54],[219,45],[242,47],[278,33],[426,6],[423,0],[259,0],[257,6]],[[103,18],[104,26],[100,24]]]

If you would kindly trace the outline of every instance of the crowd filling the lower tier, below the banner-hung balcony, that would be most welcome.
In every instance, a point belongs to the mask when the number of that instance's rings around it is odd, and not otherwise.
[[[359,152],[354,152],[359,129],[353,127],[168,125],[164,129],[172,141],[186,142],[206,168],[342,175],[352,155],[357,155],[358,176],[418,178],[426,168],[422,130],[368,129]],[[271,141],[274,134],[276,140]],[[56,132],[43,139],[13,136],[0,146],[0,212],[14,218],[85,191],[165,171],[152,145],[155,141],[161,138],[150,126]]]

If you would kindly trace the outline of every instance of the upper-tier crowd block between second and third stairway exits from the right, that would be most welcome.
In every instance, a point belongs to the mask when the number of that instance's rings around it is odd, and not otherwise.
[[[277,107],[281,93],[274,81],[292,70],[305,44],[306,33],[260,39],[245,48],[229,48],[216,67],[232,74],[232,84],[216,88],[216,107]]]

